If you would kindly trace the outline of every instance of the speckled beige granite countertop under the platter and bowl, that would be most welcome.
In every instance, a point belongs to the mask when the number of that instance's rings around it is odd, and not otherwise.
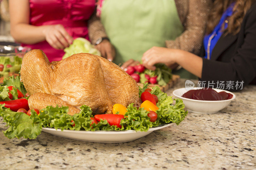
[[[185,80],[174,89],[184,87]],[[188,113],[180,125],[132,142],[91,143],[42,132],[35,140],[0,132],[0,169],[256,169],[256,86],[216,114]],[[0,131],[6,130],[0,118]]]

